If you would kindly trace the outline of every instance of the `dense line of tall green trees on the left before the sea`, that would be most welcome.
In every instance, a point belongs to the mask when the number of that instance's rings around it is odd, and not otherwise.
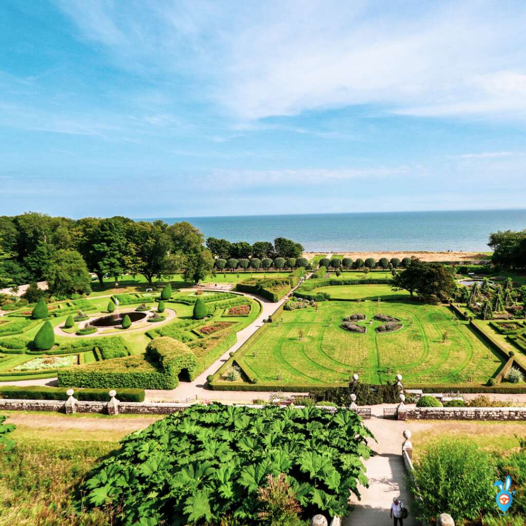
[[[285,238],[254,245],[208,238],[205,246],[203,233],[186,221],[168,225],[123,216],[75,220],[35,212],[0,216],[0,286],[45,280],[56,295],[87,292],[89,272],[101,286],[105,276],[117,281],[124,274],[141,274],[151,284],[181,271],[185,280],[198,282],[220,256],[250,257],[254,265],[257,256],[300,259],[302,251]]]

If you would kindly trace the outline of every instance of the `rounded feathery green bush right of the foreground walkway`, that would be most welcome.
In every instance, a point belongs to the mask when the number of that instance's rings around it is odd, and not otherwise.
[[[495,509],[497,469],[489,454],[471,441],[432,443],[414,462],[413,475],[411,489],[421,497],[415,499],[419,519],[430,521],[449,513],[461,523]]]

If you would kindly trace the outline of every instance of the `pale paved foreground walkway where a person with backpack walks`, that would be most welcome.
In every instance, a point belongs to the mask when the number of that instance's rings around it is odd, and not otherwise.
[[[389,518],[393,497],[398,497],[411,510],[412,497],[406,488],[406,471],[401,456],[402,433],[408,429],[408,423],[384,420],[384,407],[390,406],[372,406],[371,419],[364,420],[377,440],[369,439],[369,446],[377,454],[366,462],[369,488],[359,487],[361,500],[352,495],[353,510],[343,519],[343,526],[389,526],[393,523]],[[403,524],[417,526],[420,523],[410,512]]]

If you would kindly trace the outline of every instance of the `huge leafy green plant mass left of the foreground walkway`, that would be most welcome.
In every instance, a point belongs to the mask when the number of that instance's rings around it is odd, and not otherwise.
[[[130,434],[85,483],[126,526],[256,521],[258,488],[285,473],[304,517],[345,515],[367,485],[372,437],[355,412],[268,406],[193,406]]]

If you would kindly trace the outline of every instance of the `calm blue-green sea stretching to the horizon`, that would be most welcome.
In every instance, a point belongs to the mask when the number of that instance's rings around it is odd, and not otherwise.
[[[206,237],[272,241],[286,237],[306,251],[487,251],[490,232],[526,228],[526,209],[378,212],[276,216],[169,217],[189,221]]]

